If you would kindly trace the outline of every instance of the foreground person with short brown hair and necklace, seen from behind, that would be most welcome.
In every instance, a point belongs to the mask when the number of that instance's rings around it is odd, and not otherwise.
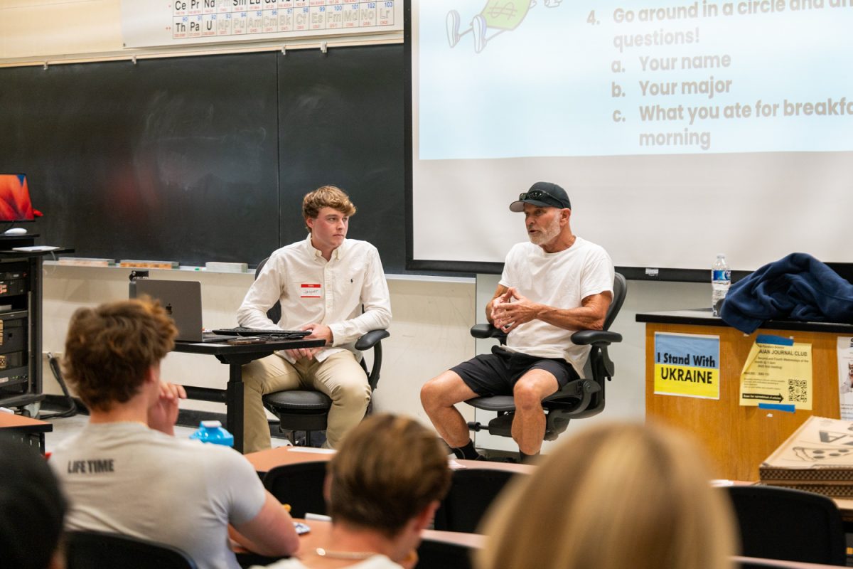
[[[421,531],[449,487],[447,452],[435,433],[403,416],[368,417],[328,464],[328,543],[270,567],[412,567]]]

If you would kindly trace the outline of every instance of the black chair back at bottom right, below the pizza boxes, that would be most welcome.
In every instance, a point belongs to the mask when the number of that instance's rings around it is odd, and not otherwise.
[[[778,486],[729,486],[747,557],[844,565],[844,525],[827,496]]]

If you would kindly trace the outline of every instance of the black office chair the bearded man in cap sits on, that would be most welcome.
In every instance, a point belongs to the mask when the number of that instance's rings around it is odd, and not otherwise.
[[[572,342],[578,345],[591,345],[589,359],[583,368],[583,378],[569,381],[559,391],[543,399],[545,410],[545,440],[554,440],[566,430],[569,421],[598,415],[604,410],[605,380],[612,380],[614,366],[607,355],[607,346],[622,341],[622,334],[610,332],[610,325],[616,319],[625,300],[628,283],[625,277],[616,273],[613,279],[613,300],[607,309],[604,327],[601,330],[581,330],[572,334]],[[476,324],[471,328],[474,338],[496,338],[506,343],[507,334],[491,324]],[[468,423],[474,432],[488,429],[490,434],[500,437],[512,437],[515,402],[512,395],[496,395],[468,399],[467,404],[477,409],[497,411],[497,416],[483,426],[479,421]]]

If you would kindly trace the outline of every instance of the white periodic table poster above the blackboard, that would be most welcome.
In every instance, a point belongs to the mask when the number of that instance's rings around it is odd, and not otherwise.
[[[403,0],[121,0],[125,48],[403,30]]]

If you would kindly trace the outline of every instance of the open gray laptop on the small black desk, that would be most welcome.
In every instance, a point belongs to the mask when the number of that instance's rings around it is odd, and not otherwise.
[[[234,335],[204,333],[201,327],[201,283],[198,281],[159,281],[134,279],[131,299],[148,295],[160,300],[177,328],[178,342],[224,342]]]

